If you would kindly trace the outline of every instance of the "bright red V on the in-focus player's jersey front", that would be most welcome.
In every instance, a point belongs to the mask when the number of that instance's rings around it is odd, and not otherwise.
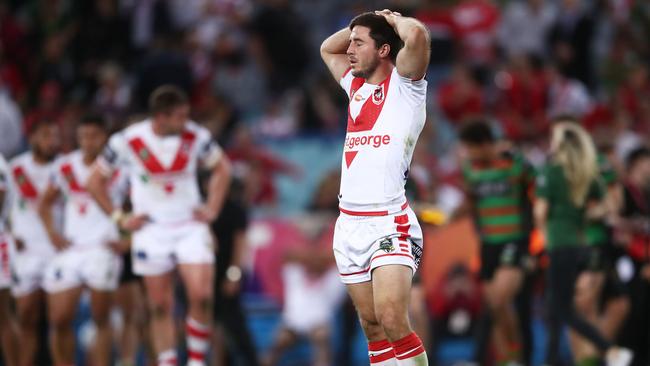
[[[350,113],[350,107],[348,106],[348,128],[347,132],[362,132],[362,131],[371,131],[377,123],[377,118],[381,110],[384,108],[384,102],[386,101],[386,95],[388,94],[388,87],[390,86],[391,74],[382,81],[375,90],[372,92],[366,101],[361,106],[359,115],[356,118],[352,118]],[[350,86],[350,103],[352,103],[353,98],[355,98],[356,92],[363,87],[366,80],[363,78],[354,78],[352,79],[352,85]],[[358,151],[346,151],[345,163],[348,168],[352,164],[352,161],[357,156]]]

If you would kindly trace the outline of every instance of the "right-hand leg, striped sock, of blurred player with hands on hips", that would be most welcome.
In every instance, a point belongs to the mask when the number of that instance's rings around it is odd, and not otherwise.
[[[214,264],[181,264],[189,304],[185,323],[188,366],[205,365],[212,330]]]

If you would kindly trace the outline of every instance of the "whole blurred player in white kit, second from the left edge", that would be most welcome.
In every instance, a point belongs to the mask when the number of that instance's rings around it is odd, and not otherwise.
[[[43,276],[55,253],[38,215],[38,204],[52,176],[60,139],[58,125],[38,121],[29,134],[31,151],[18,155],[9,163],[11,190],[15,192],[10,220],[16,244],[11,291],[18,310],[21,365],[35,364],[41,309],[45,302]],[[60,219],[60,207],[55,208],[55,217]]]

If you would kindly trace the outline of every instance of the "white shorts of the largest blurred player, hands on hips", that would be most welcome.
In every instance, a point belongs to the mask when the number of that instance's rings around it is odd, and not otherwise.
[[[212,264],[215,249],[208,225],[149,224],[133,234],[133,272],[157,276],[177,264]]]

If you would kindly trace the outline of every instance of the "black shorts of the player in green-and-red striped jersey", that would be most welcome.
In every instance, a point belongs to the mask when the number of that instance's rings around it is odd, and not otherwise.
[[[489,281],[500,267],[523,267],[527,251],[525,240],[512,241],[504,244],[481,245],[480,278]]]

